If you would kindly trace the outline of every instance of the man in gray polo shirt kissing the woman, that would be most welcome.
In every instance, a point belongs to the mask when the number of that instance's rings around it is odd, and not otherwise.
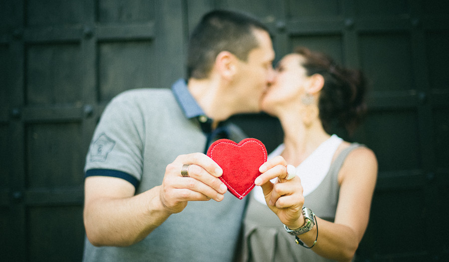
[[[244,138],[222,122],[259,111],[274,51],[262,23],[220,10],[188,49],[187,85],[124,92],[102,115],[85,166],[84,261],[232,260],[244,201],[224,196],[223,170],[201,152]]]

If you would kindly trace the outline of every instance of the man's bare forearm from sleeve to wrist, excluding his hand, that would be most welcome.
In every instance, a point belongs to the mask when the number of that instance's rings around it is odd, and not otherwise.
[[[134,186],[121,178],[86,178],[84,226],[92,245],[132,245],[170,216],[158,201],[159,187],[136,196],[134,191]]]

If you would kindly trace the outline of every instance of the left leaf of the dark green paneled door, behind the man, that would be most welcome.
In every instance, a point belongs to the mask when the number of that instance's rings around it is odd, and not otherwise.
[[[93,130],[119,92],[183,76],[182,6],[0,2],[0,260],[81,260]]]

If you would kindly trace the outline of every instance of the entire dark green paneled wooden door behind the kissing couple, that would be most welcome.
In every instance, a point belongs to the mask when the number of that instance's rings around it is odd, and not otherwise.
[[[84,159],[104,106],[183,77],[189,32],[214,8],[259,17],[276,60],[305,45],[369,76],[352,140],[375,151],[379,179],[358,261],[448,260],[445,0],[0,1],[1,260],[81,260]],[[233,119],[268,150],[282,140],[267,115]]]

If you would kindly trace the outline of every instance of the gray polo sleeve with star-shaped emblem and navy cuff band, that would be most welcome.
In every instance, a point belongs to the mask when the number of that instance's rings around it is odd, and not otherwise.
[[[137,187],[143,170],[143,119],[132,92],[114,98],[95,129],[85,176],[118,177]]]

